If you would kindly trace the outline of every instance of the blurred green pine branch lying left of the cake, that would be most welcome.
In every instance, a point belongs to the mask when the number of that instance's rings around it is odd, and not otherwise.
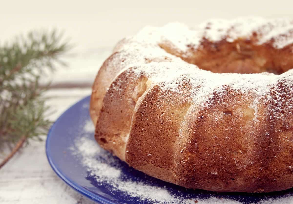
[[[0,150],[16,144],[0,168],[28,138],[41,139],[51,125],[43,96],[48,84],[40,85],[40,77],[58,63],[65,65],[58,57],[70,46],[61,41],[54,30],[30,32],[0,46]]]

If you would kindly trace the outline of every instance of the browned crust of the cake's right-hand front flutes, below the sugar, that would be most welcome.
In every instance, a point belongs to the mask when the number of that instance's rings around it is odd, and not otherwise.
[[[179,185],[240,192],[291,188],[293,177],[288,171],[293,162],[289,156],[292,143],[282,144],[284,137],[276,133],[279,127],[275,122],[268,120],[267,107],[260,104],[255,125],[254,112],[249,108],[252,100],[243,101],[245,97],[229,89],[226,96],[214,96],[211,106],[188,115],[187,124],[193,125],[184,128],[187,133],[183,135],[189,139],[176,168]],[[292,124],[292,117],[287,121]]]

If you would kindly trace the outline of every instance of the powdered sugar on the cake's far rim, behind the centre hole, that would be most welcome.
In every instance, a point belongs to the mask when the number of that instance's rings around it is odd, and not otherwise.
[[[211,42],[217,42],[225,39],[227,42],[233,42],[238,38],[248,39],[256,34],[256,44],[265,44],[273,39],[272,45],[276,49],[281,49],[292,44],[293,21],[286,18],[265,19],[261,17],[241,17],[235,20],[208,20],[202,23],[199,28],[190,31],[199,37],[193,37],[192,40],[203,38]],[[192,41],[190,40],[190,41]],[[191,42],[198,45],[198,41]],[[197,48],[197,46],[195,46]]]

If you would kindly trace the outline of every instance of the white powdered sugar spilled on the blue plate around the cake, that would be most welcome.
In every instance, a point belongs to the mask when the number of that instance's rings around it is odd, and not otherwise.
[[[119,159],[115,158],[108,151],[100,148],[100,146],[93,140],[94,125],[89,128],[89,120],[85,121],[83,128],[79,132],[80,137],[77,137],[72,146],[71,152],[89,172],[88,175],[95,178],[98,185],[108,185],[108,189],[116,194],[123,193],[134,199],[140,201],[147,201],[147,203],[228,203],[238,204],[241,203],[237,200],[222,198],[221,196],[213,196],[214,193],[208,198],[199,199],[193,198],[197,193],[185,195],[171,193],[166,186],[155,186],[149,181],[137,181],[133,179],[125,179],[125,175],[119,165]],[[130,168],[130,167],[129,167]],[[291,203],[293,197],[287,196],[277,199],[264,199],[257,203]]]

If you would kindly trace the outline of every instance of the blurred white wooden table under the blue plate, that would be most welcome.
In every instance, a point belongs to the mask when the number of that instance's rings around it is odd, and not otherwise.
[[[55,112],[50,115],[56,120],[67,108],[81,98],[91,94],[92,83],[105,55],[105,50],[92,51],[91,55],[65,56],[69,68],[59,69],[53,77],[53,86],[74,88],[55,88],[47,92],[47,105]],[[79,88],[83,87],[83,88]],[[93,203],[67,186],[52,170],[45,154],[44,141],[29,141],[21,151],[0,169],[0,203]]]

